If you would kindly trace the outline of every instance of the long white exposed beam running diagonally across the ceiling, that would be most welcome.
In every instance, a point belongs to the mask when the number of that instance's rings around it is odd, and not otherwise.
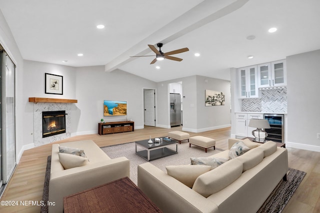
[[[237,10],[247,1],[248,0],[204,0],[105,64],[104,69],[108,72],[113,71],[135,59],[130,58],[130,56],[149,53],[150,49],[147,47],[147,44],[156,44],[159,42],[168,43],[194,29]]]

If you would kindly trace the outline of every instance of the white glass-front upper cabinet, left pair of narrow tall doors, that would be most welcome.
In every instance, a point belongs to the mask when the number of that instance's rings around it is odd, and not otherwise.
[[[238,70],[239,98],[257,98],[257,66],[248,66]]]

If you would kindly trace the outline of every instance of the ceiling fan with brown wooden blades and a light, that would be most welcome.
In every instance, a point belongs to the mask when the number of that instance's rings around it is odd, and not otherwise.
[[[173,56],[170,56],[170,55],[174,55],[174,54],[178,54],[178,53],[181,53],[181,52],[186,52],[186,51],[189,51],[188,48],[182,48],[182,49],[176,49],[176,50],[173,50],[173,51],[170,51],[170,52],[165,52],[163,53],[161,51],[161,47],[162,47],[162,43],[157,43],[156,44],[157,47],[159,47],[159,50],[157,50],[153,45],[151,44],[148,44],[149,48],[155,53],[155,58],[151,61],[150,64],[154,64],[157,60],[163,60],[164,58],[166,59],[170,59],[170,60],[174,60],[174,61],[182,61],[183,59],[182,58],[177,58],[177,57],[173,57]],[[145,56],[154,56],[154,55],[138,55],[138,56],[130,56],[130,57],[145,57]]]

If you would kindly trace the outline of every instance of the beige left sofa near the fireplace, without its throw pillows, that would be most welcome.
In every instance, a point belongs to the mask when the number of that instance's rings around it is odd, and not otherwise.
[[[64,169],[59,162],[59,146],[83,149],[88,163]],[[49,206],[48,211],[62,213],[63,197],[124,177],[129,177],[129,160],[125,157],[110,159],[91,140],[53,144],[48,201],[55,205]]]

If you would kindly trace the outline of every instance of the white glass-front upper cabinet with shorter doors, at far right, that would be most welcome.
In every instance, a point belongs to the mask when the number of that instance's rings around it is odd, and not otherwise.
[[[257,65],[258,88],[286,86],[285,60]]]

